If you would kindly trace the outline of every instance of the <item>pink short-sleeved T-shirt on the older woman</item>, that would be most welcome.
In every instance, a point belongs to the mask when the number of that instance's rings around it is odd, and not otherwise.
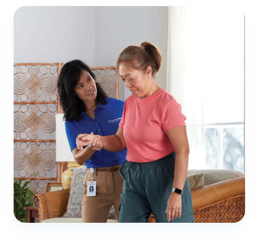
[[[143,99],[129,96],[119,123],[127,146],[126,160],[152,162],[174,152],[165,132],[186,126],[185,119],[181,105],[163,88]]]

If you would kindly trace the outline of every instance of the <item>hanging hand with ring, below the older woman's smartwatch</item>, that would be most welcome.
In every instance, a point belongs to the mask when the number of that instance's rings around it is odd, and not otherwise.
[[[181,217],[181,194],[176,192],[171,192],[171,195],[167,202],[167,220],[173,220],[175,218]]]

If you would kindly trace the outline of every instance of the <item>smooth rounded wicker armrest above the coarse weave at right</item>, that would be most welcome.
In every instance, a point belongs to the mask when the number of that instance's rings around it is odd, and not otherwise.
[[[236,177],[191,190],[193,211],[245,195],[245,177]]]

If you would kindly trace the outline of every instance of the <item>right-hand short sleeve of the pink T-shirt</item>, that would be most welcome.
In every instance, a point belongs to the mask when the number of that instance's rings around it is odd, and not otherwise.
[[[176,126],[186,126],[185,115],[181,112],[181,105],[176,100],[169,101],[163,109],[161,124],[166,132]]]

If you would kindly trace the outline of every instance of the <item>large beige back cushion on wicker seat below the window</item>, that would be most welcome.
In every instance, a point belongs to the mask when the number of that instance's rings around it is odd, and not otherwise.
[[[244,174],[233,170],[188,170],[187,175],[204,173],[204,186],[232,179],[235,177],[243,177]]]

